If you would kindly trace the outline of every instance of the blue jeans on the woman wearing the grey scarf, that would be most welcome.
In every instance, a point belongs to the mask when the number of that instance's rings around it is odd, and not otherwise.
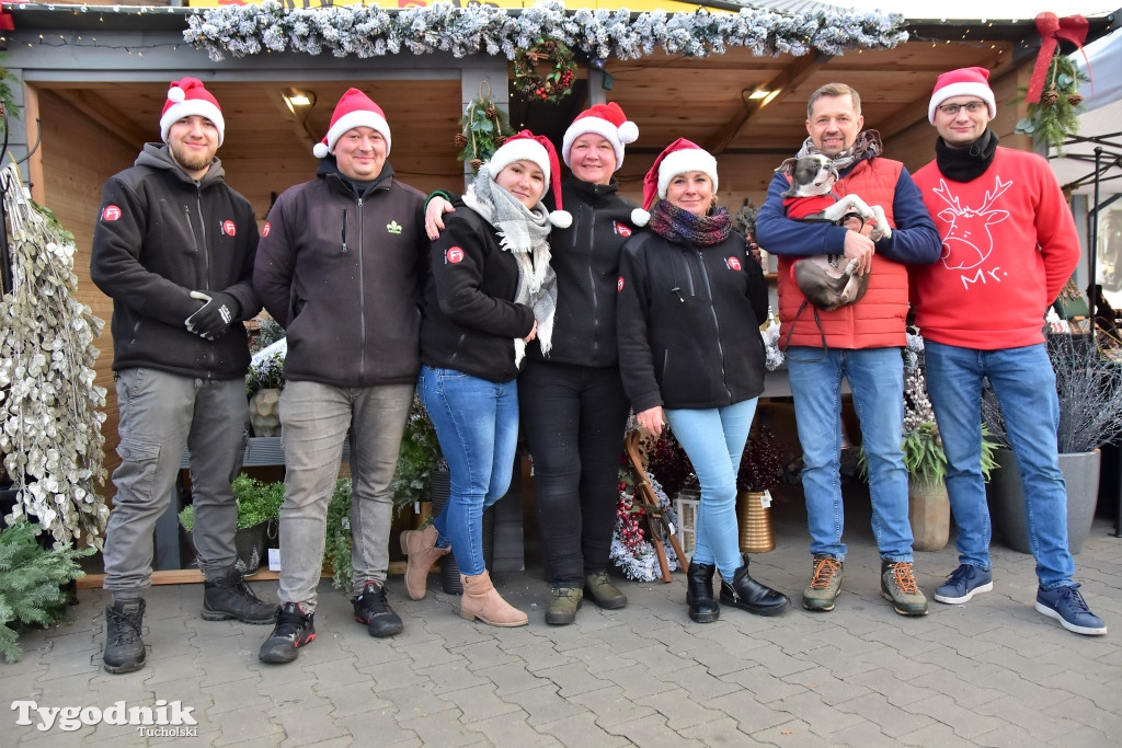
[[[452,546],[465,576],[484,564],[484,509],[511,487],[518,446],[518,386],[456,369],[421,367],[417,393],[448,460],[452,492],[433,519],[438,547]]]

